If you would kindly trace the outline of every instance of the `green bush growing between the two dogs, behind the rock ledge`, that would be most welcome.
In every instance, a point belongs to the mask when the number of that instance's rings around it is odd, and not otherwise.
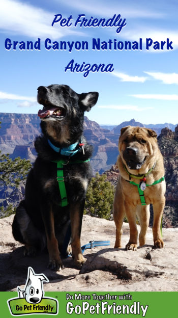
[[[84,214],[110,219],[113,210],[114,187],[106,181],[106,175],[92,178],[86,194]]]

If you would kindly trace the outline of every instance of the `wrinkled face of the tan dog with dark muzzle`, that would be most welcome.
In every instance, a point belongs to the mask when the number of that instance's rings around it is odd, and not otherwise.
[[[130,170],[139,170],[153,155],[157,134],[152,129],[127,126],[121,129],[118,150]]]

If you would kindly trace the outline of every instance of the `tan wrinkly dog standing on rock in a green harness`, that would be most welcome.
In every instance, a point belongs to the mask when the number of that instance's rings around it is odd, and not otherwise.
[[[165,205],[163,157],[158,148],[157,134],[152,129],[127,126],[121,129],[118,142],[120,155],[117,166],[120,171],[114,196],[114,222],[116,240],[114,248],[121,248],[123,219],[126,215],[130,226],[127,250],[137,249],[138,231],[136,215],[140,223],[139,245],[145,244],[150,220],[150,203],[153,204],[153,239],[155,247],[162,248],[160,225]]]

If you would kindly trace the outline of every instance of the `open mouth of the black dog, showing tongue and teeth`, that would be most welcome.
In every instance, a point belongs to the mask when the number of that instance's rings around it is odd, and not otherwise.
[[[42,110],[38,111],[38,116],[41,119],[56,118],[63,119],[66,115],[66,110],[62,107],[45,106]]]

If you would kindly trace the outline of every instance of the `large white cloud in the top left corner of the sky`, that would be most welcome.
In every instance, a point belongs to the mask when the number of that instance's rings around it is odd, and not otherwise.
[[[38,7],[33,7],[20,1],[1,0],[0,29],[11,34],[20,34],[33,38],[50,37],[58,39],[66,34],[81,34],[69,30],[69,28],[59,28],[58,25],[51,26],[54,13],[47,12]]]

